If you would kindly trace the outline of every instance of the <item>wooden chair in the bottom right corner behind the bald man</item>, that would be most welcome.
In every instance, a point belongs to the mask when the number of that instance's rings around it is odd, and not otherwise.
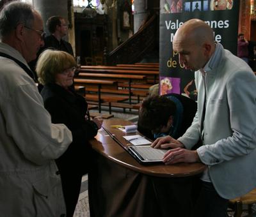
[[[235,211],[234,217],[242,216],[243,205],[248,206],[248,215],[246,217],[252,216],[253,204],[256,204],[256,188],[246,193],[246,195],[229,200],[230,207]]]

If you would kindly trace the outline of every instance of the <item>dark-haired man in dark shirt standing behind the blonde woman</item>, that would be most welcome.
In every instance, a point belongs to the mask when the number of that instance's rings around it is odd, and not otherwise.
[[[63,40],[63,37],[67,34],[67,24],[63,17],[53,16],[47,20],[46,26],[48,27],[51,35],[45,38],[44,49],[48,47],[55,48],[56,50],[62,50],[68,52],[74,56],[73,49],[68,41]]]

